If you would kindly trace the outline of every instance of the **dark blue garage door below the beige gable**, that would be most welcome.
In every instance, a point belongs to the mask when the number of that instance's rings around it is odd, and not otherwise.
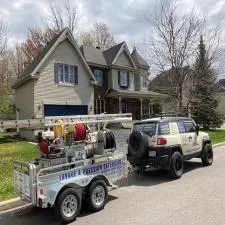
[[[44,116],[70,116],[87,114],[87,105],[44,105]]]

